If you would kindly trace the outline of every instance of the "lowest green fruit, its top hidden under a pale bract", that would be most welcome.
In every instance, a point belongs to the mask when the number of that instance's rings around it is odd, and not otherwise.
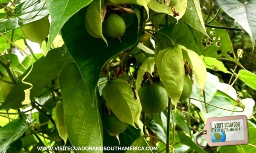
[[[106,128],[111,133],[122,133],[128,127],[129,124],[119,120],[112,112],[110,115],[106,115]]]

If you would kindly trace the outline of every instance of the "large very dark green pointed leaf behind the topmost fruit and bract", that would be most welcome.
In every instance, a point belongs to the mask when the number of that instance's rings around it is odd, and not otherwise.
[[[108,47],[104,41],[89,35],[84,26],[84,14],[86,9],[82,9],[72,16],[63,26],[62,38],[68,47],[68,51],[75,60],[85,85],[89,89],[89,96],[92,96],[100,78],[100,71],[105,62],[113,55],[131,47],[138,39],[138,20],[126,28],[124,36],[120,42],[116,38],[106,37]],[[134,18],[137,16],[134,14]],[[72,31],[72,33],[70,33]]]

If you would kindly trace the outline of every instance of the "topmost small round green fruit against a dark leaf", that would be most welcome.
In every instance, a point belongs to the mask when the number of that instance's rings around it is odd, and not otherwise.
[[[116,13],[111,13],[105,20],[104,32],[112,38],[120,38],[125,33],[124,20]]]

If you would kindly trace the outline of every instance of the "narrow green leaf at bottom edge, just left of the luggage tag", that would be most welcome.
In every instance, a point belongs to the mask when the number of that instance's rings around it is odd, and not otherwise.
[[[187,135],[184,135],[181,132],[178,132],[179,138],[180,138],[180,142],[189,146],[191,149],[196,150],[196,152],[198,153],[207,153],[206,151],[204,151],[203,148],[199,147],[195,142],[193,142],[191,140],[190,137],[188,137]]]

